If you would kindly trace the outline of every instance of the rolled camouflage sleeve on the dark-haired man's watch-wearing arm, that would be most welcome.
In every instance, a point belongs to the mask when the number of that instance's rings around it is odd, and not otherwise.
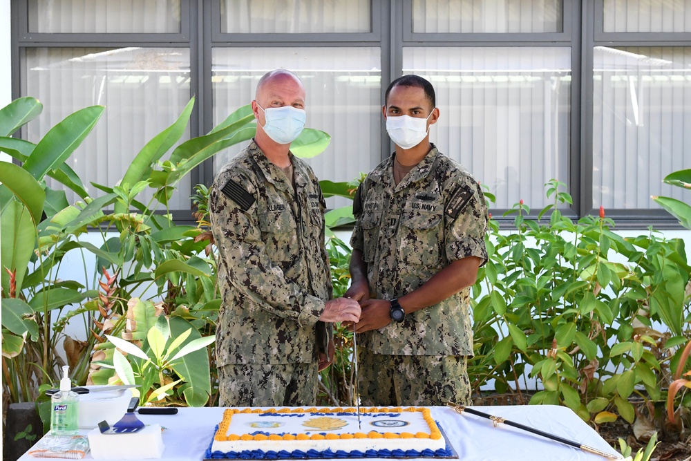
[[[487,248],[484,237],[487,232],[487,203],[477,182],[465,181],[463,187],[472,192],[468,205],[454,219],[446,220],[445,248],[449,262],[468,256],[477,256],[484,265]]]

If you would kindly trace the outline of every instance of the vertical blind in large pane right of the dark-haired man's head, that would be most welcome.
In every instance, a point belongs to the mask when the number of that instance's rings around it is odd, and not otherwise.
[[[437,91],[430,140],[489,186],[493,207],[551,203],[543,185],[569,174],[570,48],[411,47],[403,57],[404,73]]]

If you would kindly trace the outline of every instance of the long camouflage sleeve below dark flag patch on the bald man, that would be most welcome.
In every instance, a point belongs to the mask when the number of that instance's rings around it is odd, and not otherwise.
[[[209,196],[211,230],[218,247],[220,271],[238,292],[263,310],[303,326],[313,326],[323,313],[325,301],[305,292],[288,279],[267,254],[261,239],[256,203],[243,211],[214,184]],[[254,186],[247,179],[233,178],[250,194]]]

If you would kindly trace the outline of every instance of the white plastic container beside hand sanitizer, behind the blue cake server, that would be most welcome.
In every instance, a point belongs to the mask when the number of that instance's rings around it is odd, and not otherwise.
[[[86,388],[103,388],[104,386],[85,386]],[[132,399],[129,389],[116,391],[90,392],[79,395],[79,429],[93,429],[102,421],[113,426],[127,413],[127,406]]]

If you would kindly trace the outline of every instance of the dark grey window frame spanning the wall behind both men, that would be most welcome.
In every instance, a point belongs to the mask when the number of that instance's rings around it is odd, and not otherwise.
[[[190,122],[190,135],[198,136],[213,128],[211,92],[212,50],[217,47],[333,47],[378,46],[381,49],[381,101],[388,82],[402,75],[403,50],[413,46],[567,46],[571,48],[571,140],[568,153],[568,188],[574,204],[562,211],[578,219],[596,215],[592,205],[593,187],[593,91],[595,46],[691,46],[691,32],[604,32],[604,0],[564,0],[562,32],[528,33],[422,33],[413,32],[413,0],[371,0],[370,32],[338,33],[223,33],[220,24],[222,0],[180,0],[178,33],[34,33],[28,31],[28,1],[10,3],[11,57],[18,63],[26,59],[28,48],[93,47],[117,48],[145,46],[164,48],[188,46],[190,55],[190,97],[197,95]],[[218,19],[218,20],[217,20]],[[21,66],[12,66],[12,97],[21,96]],[[380,121],[381,152],[377,160],[390,156],[394,146]],[[21,133],[23,134],[23,133]],[[372,156],[376,156],[372,153]],[[214,179],[213,160],[207,160],[191,173],[191,185],[210,185]],[[538,187],[538,185],[536,185]],[[189,191],[191,194],[192,191]],[[190,210],[171,210],[180,223],[193,223]],[[493,209],[503,225],[502,209]],[[537,213],[538,210],[535,210]],[[680,229],[675,218],[663,209],[607,209],[622,229]],[[532,214],[531,214],[532,215]],[[536,216],[531,216],[536,217]]]

